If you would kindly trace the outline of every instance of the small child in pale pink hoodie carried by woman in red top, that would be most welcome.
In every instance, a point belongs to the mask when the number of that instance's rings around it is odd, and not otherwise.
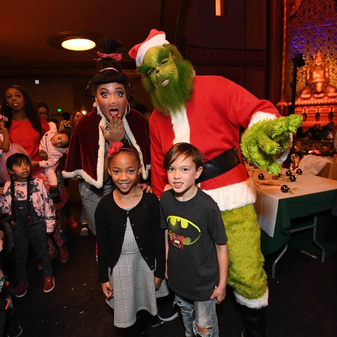
[[[32,161],[32,167],[43,167],[44,173],[50,182],[50,196],[60,196],[57,187],[57,177],[55,170],[59,163],[59,159],[68,150],[70,143],[70,129],[63,129],[60,131],[47,131],[40,140],[39,151],[45,151],[48,154],[48,160]]]

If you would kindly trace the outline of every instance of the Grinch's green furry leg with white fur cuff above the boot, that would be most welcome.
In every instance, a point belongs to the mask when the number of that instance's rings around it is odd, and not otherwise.
[[[240,304],[250,308],[268,305],[267,275],[260,249],[260,227],[252,204],[221,212],[228,237],[227,283]]]

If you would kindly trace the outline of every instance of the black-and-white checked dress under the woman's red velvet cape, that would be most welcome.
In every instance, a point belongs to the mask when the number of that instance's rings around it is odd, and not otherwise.
[[[109,121],[106,122],[106,130],[109,130]],[[124,133],[124,138],[131,144],[131,141],[126,134]],[[104,156],[108,153],[109,142],[105,141]],[[88,226],[93,234],[96,235],[96,226],[95,226],[95,211],[96,207],[101,200],[101,198],[109,194],[112,190],[116,188],[115,184],[111,179],[106,183],[103,183],[102,188],[98,189],[93,185],[90,185],[84,179],[81,179],[79,182],[79,191],[82,199],[82,205],[88,220]]]

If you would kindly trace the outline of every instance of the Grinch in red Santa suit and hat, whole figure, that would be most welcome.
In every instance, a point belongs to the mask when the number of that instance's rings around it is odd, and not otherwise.
[[[198,183],[221,210],[228,237],[228,284],[240,304],[243,336],[265,336],[267,275],[253,206],[255,189],[241,150],[254,165],[278,174],[278,161],[285,160],[301,117],[280,117],[269,101],[221,76],[195,76],[164,32],[152,29],[129,55],[155,106],[150,118],[152,189],[160,197],[166,187],[163,158],[172,144],[187,142],[202,151],[205,162]],[[241,150],[239,126],[246,129]]]

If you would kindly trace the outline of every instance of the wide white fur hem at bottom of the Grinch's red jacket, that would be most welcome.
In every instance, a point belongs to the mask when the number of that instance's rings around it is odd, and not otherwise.
[[[256,201],[256,191],[251,178],[241,183],[203,191],[218,204],[220,211],[228,211]]]

